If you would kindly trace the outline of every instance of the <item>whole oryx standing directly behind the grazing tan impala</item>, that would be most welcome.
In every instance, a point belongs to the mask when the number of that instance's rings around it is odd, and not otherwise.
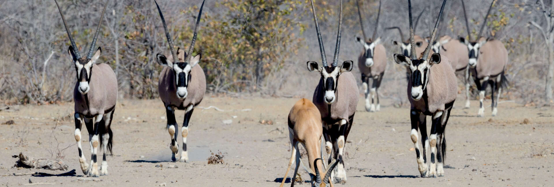
[[[331,163],[332,158],[337,158],[340,161],[331,173],[331,179],[336,183],[346,183],[346,171],[342,154],[348,132],[350,132],[350,127],[352,126],[354,114],[356,113],[358,87],[356,79],[350,72],[353,65],[351,60],[344,61],[340,67],[337,67],[338,52],[340,51],[341,44],[342,0],[339,2],[337,42],[331,66],[327,65],[325,48],[321,39],[319,24],[317,24],[314,2],[312,0],[310,2],[323,65],[319,66],[314,61],[306,62],[310,72],[317,71],[321,75],[319,84],[317,84],[314,90],[314,98],[312,100],[321,113],[325,149],[329,155],[329,163]],[[331,150],[334,154],[331,154]]]

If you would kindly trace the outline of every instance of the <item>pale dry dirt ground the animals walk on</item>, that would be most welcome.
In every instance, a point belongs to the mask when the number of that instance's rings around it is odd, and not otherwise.
[[[33,183],[55,186],[161,186],[163,183],[167,186],[278,186],[274,180],[283,177],[290,157],[286,116],[298,99],[204,98],[200,106],[217,106],[224,111],[194,110],[188,135],[190,163],[168,162],[170,136],[165,129],[166,114],[160,100],[119,100],[112,123],[114,156],[107,158],[110,175],[96,181],[83,180],[81,176],[72,103],[26,105],[19,106],[17,111],[0,111],[0,123],[15,122],[0,125],[0,184],[25,185],[31,179]],[[346,145],[348,181],[345,186],[554,184],[552,108],[504,102],[499,104],[498,116],[491,117],[488,107],[485,117],[476,117],[479,103],[474,100],[471,104],[471,109],[462,109],[463,99],[458,98],[446,129],[445,164],[452,168],[444,169],[445,177],[420,178],[416,153],[411,150],[407,106],[394,108],[392,100],[383,99],[381,111],[367,113],[360,100]],[[485,104],[490,104],[490,100]],[[177,112],[177,116],[181,124],[183,111]],[[524,119],[529,122],[524,124]],[[226,124],[223,120],[232,122]],[[273,124],[260,124],[261,120],[271,120]],[[83,136],[84,153],[90,161],[88,135]],[[24,172],[63,173],[12,168],[17,159],[11,156],[23,152],[33,157],[55,158],[57,151],[68,146],[60,156],[69,170],[77,170],[76,176],[8,176]],[[222,152],[224,164],[207,164],[210,151]],[[167,168],[170,165],[178,168]],[[305,172],[301,174],[304,180],[309,180]]]

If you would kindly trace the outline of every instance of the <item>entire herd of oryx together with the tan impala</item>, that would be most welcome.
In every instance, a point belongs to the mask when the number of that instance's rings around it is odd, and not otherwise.
[[[101,48],[98,47],[96,51],[94,50],[107,2],[100,14],[100,22],[88,54],[83,58],[67,26],[64,14],[58,2],[55,1],[71,43],[68,54],[76,70],[74,109],[75,140],[79,151],[79,163],[83,173],[91,177],[108,174],[106,154],[111,152],[114,136],[111,130],[111,121],[117,101],[117,77],[109,65],[98,61],[102,51]],[[491,108],[493,116],[497,115],[497,104],[501,90],[507,86],[505,70],[508,52],[504,44],[500,40],[481,37],[494,1],[491,2],[481,25],[479,35],[475,40],[471,38],[465,4],[461,0],[468,38],[466,39],[465,36],[458,36],[456,38],[454,36],[443,35],[435,41],[446,2],[446,0],[442,2],[432,33],[429,33],[429,37],[424,38],[416,35],[415,32],[417,22],[425,11],[422,11],[418,15],[414,25],[412,20],[412,2],[408,0],[409,39],[404,38],[401,26],[386,28],[397,29],[401,39],[400,41],[392,42],[393,45],[399,47],[399,54],[389,56],[382,44],[381,37],[377,37],[381,1],[379,1],[375,30],[372,37],[367,38],[363,26],[360,3],[356,0],[363,34],[363,38],[356,37],[356,41],[363,47],[360,56],[358,56],[358,68],[361,73],[362,90],[365,93],[365,109],[366,111],[376,112],[381,108],[378,89],[385,76],[384,72],[387,68],[387,61],[394,60],[399,65],[406,66],[408,81],[406,89],[407,98],[411,104],[410,121],[412,130],[410,137],[416,151],[416,161],[421,177],[444,176],[443,165],[446,153],[444,131],[456,95],[458,94],[456,73],[460,73],[464,77],[465,108],[470,106],[470,79],[474,79],[476,87],[479,90],[480,108],[477,113],[478,116],[484,116],[483,100],[487,86],[490,85],[492,90]],[[162,10],[156,1],[155,4],[172,57],[167,58],[162,54],[156,55],[157,63],[163,66],[158,84],[158,92],[167,115],[167,131],[171,137],[171,159],[173,162],[176,162],[177,157],[179,157],[179,161],[188,162],[188,124],[194,108],[201,103],[206,93],[206,76],[202,67],[198,65],[202,55],[200,52],[196,52],[196,55],[193,55],[204,1],[202,1],[202,5],[199,8],[192,41],[187,52],[179,48],[175,50],[173,38],[170,35],[170,31],[168,31]],[[306,62],[306,65],[310,72],[319,73],[320,80],[314,90],[312,100],[300,99],[294,104],[288,115],[290,144],[292,148],[289,166],[286,169],[281,186],[284,185],[290,167],[295,162],[296,167],[291,186],[294,185],[300,164],[310,174],[312,186],[326,186],[333,183],[346,183],[347,181],[344,158],[345,142],[352,128],[360,89],[354,74],[351,72],[354,68],[353,61],[346,60],[342,62],[341,66],[338,66],[342,35],[343,3],[342,0],[338,3],[338,29],[335,52],[331,64],[327,63],[324,42],[320,26],[317,22],[313,0],[310,0],[310,4],[319,42],[321,65],[314,61]],[[185,111],[181,128],[183,143],[180,156],[178,154],[178,124],[175,119],[175,110]],[[427,116],[431,116],[432,121],[429,136],[427,135]],[[86,158],[81,147],[82,122],[85,123],[86,129],[89,132],[90,163],[86,163]],[[420,136],[418,136],[418,129]],[[326,154],[324,154],[321,148],[322,138]],[[422,144],[422,151],[420,151],[419,141]],[[307,151],[308,168],[301,161],[298,143],[301,143]],[[100,172],[96,159],[98,146],[102,148],[104,153]],[[430,152],[430,163],[428,163],[427,159],[428,150]],[[324,159],[325,156],[327,156],[326,160]]]

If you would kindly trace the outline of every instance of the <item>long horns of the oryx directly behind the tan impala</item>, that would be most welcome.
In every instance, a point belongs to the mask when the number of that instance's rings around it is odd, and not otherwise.
[[[321,39],[321,31],[319,30],[319,24],[317,24],[317,16],[315,15],[314,0],[310,0],[312,14],[314,14],[315,30],[317,31],[317,41],[319,42],[319,51],[321,52],[321,63],[324,67],[327,67],[327,57],[325,56],[325,47],[323,46],[323,41]],[[339,2],[339,14],[338,14],[338,33],[337,33],[337,43],[335,46],[335,56],[333,57],[332,67],[337,67],[338,63],[338,51],[341,47],[341,34],[342,34],[342,0]]]

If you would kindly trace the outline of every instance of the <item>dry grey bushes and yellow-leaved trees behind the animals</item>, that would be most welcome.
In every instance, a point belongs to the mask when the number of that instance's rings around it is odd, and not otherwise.
[[[80,51],[88,50],[104,1],[60,0]],[[362,1],[368,35],[375,28],[378,1]],[[440,1],[414,0],[414,12],[425,13],[417,28],[428,36]],[[536,0],[497,1],[489,17],[485,36],[504,42],[509,51],[507,77],[511,84],[503,96],[527,105],[545,101],[548,42],[530,21],[546,27],[546,18]],[[187,48],[193,20],[201,1],[160,0],[175,45]],[[466,0],[471,34],[475,38],[490,1]],[[357,60],[362,52],[355,37],[361,36],[355,1],[345,1],[340,61]],[[545,2],[550,7],[551,1]],[[440,33],[466,36],[460,1],[449,1]],[[155,55],[167,54],[168,46],[153,1],[110,1],[97,46],[101,61],[116,72],[120,98],[157,98],[158,74]],[[337,1],[316,1],[317,14],[328,55],[334,51]],[[399,52],[400,26],[408,34],[405,1],[383,1],[378,34],[389,56],[380,90],[382,98],[406,103],[404,67],[392,54]],[[551,14],[549,14],[551,15]],[[311,98],[317,84],[315,73],[305,62],[321,61],[306,0],[207,1],[198,32],[195,52],[202,51],[200,65],[206,72],[208,92],[213,94],[301,96]],[[75,83],[74,65],[63,23],[53,1],[0,1],[0,99],[4,103],[53,103],[71,100]],[[330,58],[330,57],[329,57]],[[358,68],[353,72],[358,75]],[[361,84],[358,79],[358,84]],[[461,81],[460,81],[461,90]]]

